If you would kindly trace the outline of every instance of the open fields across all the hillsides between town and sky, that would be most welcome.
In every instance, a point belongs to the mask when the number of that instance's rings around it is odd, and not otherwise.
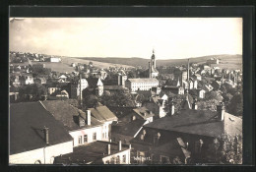
[[[190,58],[191,63],[205,63],[211,57],[217,57],[220,59],[219,66],[223,69],[242,69],[242,56],[241,55],[213,55],[213,56],[203,56]],[[83,57],[61,57],[61,63],[51,63],[51,62],[32,62],[32,63],[43,63],[46,68],[51,68],[52,71],[60,73],[71,73],[75,71],[75,68],[71,67],[71,63],[81,63],[89,64],[93,62],[94,66],[99,69],[106,69],[108,67],[124,67],[124,68],[134,68],[136,66],[143,66],[148,68],[148,63],[150,59],[143,58],[83,58]],[[169,59],[169,60],[157,60],[157,66],[179,66],[186,64],[187,59]],[[17,65],[28,65],[26,63],[16,63]]]

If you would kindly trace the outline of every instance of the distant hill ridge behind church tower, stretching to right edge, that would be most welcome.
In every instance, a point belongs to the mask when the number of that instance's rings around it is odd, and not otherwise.
[[[241,69],[242,68],[242,55],[209,55],[202,57],[191,57],[189,61],[191,63],[205,63],[210,58],[215,57],[220,59],[220,67],[224,68],[234,68]],[[127,66],[142,66],[148,67],[150,59],[144,59],[139,57],[131,57],[131,58],[120,58],[120,57],[77,57],[78,59],[83,60],[92,60],[103,63],[111,63],[111,64],[121,64]],[[158,57],[157,57],[158,58]],[[157,66],[177,66],[186,64],[187,59],[169,59],[169,60],[157,60]]]

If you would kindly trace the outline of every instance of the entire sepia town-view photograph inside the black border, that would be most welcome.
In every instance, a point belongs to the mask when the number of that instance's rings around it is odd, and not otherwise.
[[[243,163],[243,19],[9,18],[9,165]]]

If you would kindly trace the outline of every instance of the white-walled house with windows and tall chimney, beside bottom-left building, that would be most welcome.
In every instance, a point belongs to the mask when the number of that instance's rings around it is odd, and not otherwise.
[[[108,118],[109,121],[101,120],[101,116],[109,115],[105,108],[100,108],[100,112],[95,108],[84,112],[62,100],[46,100],[42,101],[42,104],[56,120],[63,123],[73,138],[74,146],[96,141],[109,141],[111,120]],[[101,117],[100,121],[99,117]],[[111,117],[114,119],[115,116]]]

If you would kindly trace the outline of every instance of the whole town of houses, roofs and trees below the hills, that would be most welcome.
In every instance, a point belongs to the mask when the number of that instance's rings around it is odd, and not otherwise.
[[[241,164],[242,70],[10,51],[10,164]],[[227,64],[228,65],[228,64]]]

